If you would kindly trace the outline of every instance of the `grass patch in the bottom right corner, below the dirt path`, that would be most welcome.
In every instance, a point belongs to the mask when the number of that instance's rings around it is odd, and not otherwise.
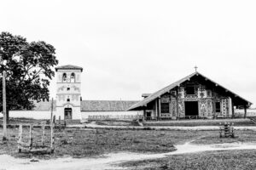
[[[121,166],[136,170],[197,169],[197,170],[254,170],[256,150],[224,150],[167,156],[161,159],[130,161]]]

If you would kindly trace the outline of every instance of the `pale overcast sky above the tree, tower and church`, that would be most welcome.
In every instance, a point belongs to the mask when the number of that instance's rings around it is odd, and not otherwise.
[[[256,104],[255,1],[0,0],[0,8],[0,31],[50,43],[59,65],[84,68],[83,99],[142,99],[197,65]]]

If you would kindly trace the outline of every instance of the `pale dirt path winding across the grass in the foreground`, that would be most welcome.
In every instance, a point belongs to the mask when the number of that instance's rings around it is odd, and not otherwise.
[[[177,150],[165,153],[165,154],[137,154],[131,152],[123,153],[111,153],[98,158],[58,158],[55,160],[39,160],[36,162],[30,161],[31,159],[16,159],[12,156],[1,155],[0,156],[0,169],[6,170],[99,170],[99,169],[122,169],[118,167],[120,162],[125,161],[138,161],[144,159],[156,159],[165,157],[167,155],[180,155],[187,153],[195,153],[208,150],[256,150],[256,144],[254,143],[232,143],[232,144],[178,144],[176,145]]]

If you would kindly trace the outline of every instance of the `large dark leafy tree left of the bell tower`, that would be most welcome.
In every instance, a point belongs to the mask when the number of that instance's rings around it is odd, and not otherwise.
[[[49,80],[58,64],[55,48],[43,41],[27,42],[9,32],[0,34],[0,71],[6,71],[7,120],[9,111],[32,110],[33,101],[49,100]],[[3,95],[2,77],[0,95]],[[3,98],[0,98],[0,111]]]

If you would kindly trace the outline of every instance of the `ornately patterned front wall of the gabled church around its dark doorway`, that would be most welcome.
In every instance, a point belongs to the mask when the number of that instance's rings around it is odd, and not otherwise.
[[[189,84],[189,86],[193,87],[191,84]],[[181,87],[178,88],[178,114],[176,90],[173,89],[171,91],[171,94],[167,93],[162,95],[160,97],[160,116],[172,118],[176,118],[177,116],[184,117],[186,115],[185,102],[187,101],[198,102],[198,116],[200,117],[212,118],[214,116],[213,101],[219,103],[220,108],[219,111],[216,112],[217,116],[229,116],[230,101],[227,96],[214,94],[214,92],[212,92],[212,89],[209,89],[199,83],[197,83],[194,87],[195,94],[187,93],[186,85],[181,85]],[[156,113],[156,110],[154,112]]]

